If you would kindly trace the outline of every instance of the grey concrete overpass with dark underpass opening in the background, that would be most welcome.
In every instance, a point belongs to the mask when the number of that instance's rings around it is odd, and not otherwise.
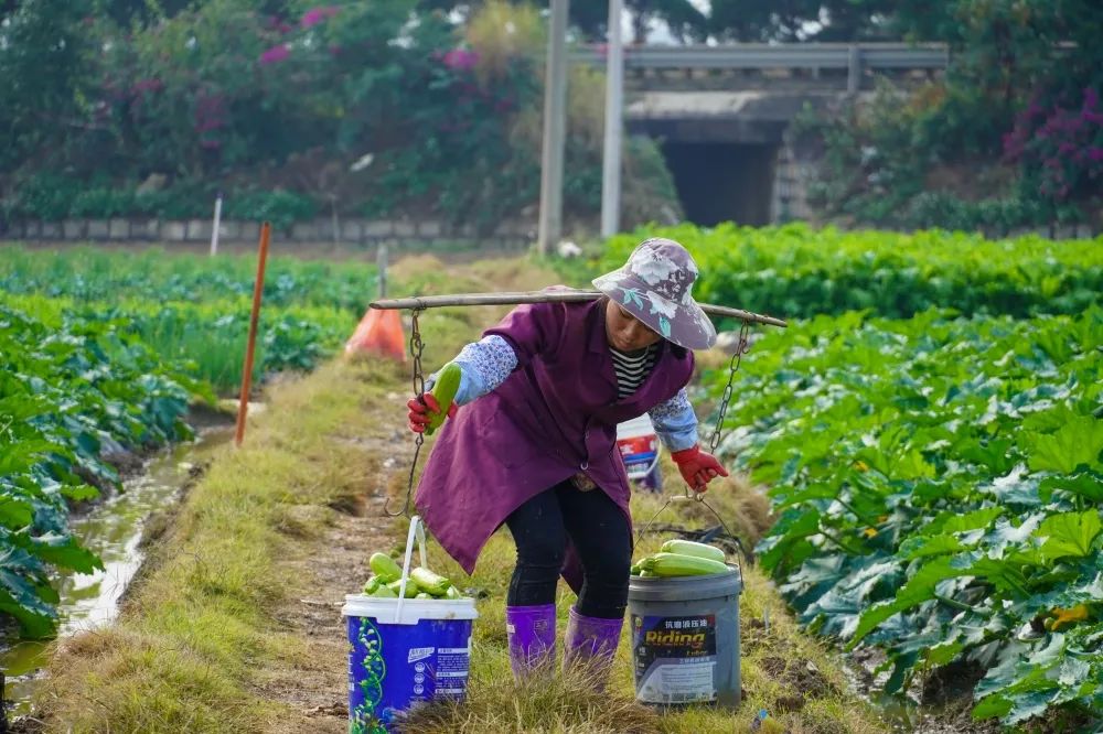
[[[572,58],[603,63],[600,47]],[[947,62],[935,44],[625,48],[625,127],[660,141],[690,222],[800,218],[811,164],[786,134],[796,115],[869,94],[877,77],[929,80]]]

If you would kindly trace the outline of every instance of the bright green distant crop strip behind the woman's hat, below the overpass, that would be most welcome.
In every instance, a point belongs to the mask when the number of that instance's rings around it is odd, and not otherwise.
[[[907,317],[931,307],[965,315],[1073,314],[1103,293],[1101,239],[986,240],[805,224],[638,230],[610,239],[593,269],[621,267],[645,237],[671,237],[689,249],[700,268],[699,300],[791,319],[855,310]]]

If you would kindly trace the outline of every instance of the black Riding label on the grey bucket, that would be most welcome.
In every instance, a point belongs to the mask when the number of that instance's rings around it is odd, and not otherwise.
[[[644,703],[716,701],[716,615],[632,615],[636,699]]]

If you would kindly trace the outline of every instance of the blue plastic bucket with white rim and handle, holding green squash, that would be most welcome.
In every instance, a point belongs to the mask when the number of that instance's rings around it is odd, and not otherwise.
[[[409,576],[415,529],[406,548]],[[421,564],[425,539],[421,536]],[[405,589],[405,584],[404,584]],[[471,661],[473,598],[345,596],[341,613],[349,633],[349,733],[392,731],[403,712],[433,699],[463,699]]]

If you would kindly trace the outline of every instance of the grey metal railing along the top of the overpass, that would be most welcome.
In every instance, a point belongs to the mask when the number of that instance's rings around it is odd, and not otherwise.
[[[576,63],[602,65],[603,46],[580,46]],[[846,69],[847,90],[857,91],[866,69],[939,71],[950,63],[945,44],[738,43],[716,46],[624,46],[625,69]]]

